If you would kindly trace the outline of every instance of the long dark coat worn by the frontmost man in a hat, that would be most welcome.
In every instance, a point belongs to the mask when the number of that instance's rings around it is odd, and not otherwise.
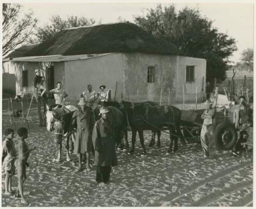
[[[117,166],[113,127],[109,121],[100,118],[93,128],[93,146],[96,166]]]

